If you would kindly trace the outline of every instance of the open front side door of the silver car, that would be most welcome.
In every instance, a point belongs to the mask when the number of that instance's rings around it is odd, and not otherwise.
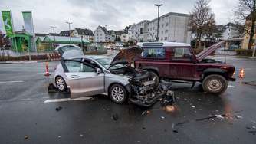
[[[70,85],[71,98],[97,95],[104,92],[104,73],[96,67],[75,60],[61,60]]]

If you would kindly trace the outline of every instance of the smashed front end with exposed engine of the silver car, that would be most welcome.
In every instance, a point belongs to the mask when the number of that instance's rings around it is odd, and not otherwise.
[[[136,103],[140,106],[153,105],[159,97],[167,92],[167,88],[163,88],[166,87],[164,86],[166,83],[158,84],[156,82],[156,77],[146,70],[126,66],[112,69],[110,72],[112,74],[118,74],[120,76],[130,78],[130,102]]]

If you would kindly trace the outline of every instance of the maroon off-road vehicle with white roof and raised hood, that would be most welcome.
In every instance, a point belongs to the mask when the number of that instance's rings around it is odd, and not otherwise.
[[[192,87],[195,82],[200,82],[206,92],[220,94],[227,89],[228,80],[235,81],[235,67],[205,57],[212,54],[223,42],[208,47],[198,55],[193,53],[190,44],[138,43],[144,51],[135,62],[135,67],[153,72],[157,79],[192,81]]]

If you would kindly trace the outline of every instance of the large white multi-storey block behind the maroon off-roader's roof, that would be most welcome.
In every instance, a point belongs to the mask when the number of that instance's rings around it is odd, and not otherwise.
[[[159,17],[159,41],[190,43],[191,31],[188,24],[191,15],[169,12]],[[157,18],[141,21],[129,29],[131,40],[156,41]]]

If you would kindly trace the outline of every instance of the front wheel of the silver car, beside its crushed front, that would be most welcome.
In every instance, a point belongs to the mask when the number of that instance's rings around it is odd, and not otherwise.
[[[113,86],[110,87],[109,95],[114,103],[124,103],[127,99],[127,91],[120,84],[113,84]]]

